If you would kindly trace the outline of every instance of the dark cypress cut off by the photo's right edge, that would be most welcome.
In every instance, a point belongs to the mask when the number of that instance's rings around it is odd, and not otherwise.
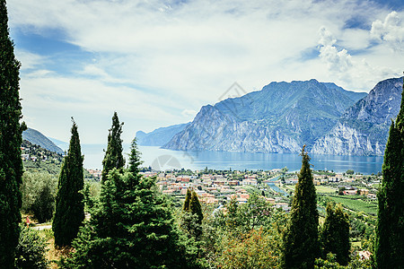
[[[382,175],[378,193],[376,265],[377,268],[401,268],[404,265],[404,85],[400,112],[390,127]]]

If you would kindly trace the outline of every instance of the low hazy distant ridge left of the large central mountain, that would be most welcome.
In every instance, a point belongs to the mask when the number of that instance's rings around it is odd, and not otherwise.
[[[163,144],[168,143],[175,134],[180,133],[187,126],[189,126],[189,123],[161,127],[155,129],[153,132],[150,133],[138,131],[136,132],[137,144],[148,146],[162,146]]]

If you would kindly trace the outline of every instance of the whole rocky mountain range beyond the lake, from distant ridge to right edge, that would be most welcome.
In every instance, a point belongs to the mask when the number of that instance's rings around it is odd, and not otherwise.
[[[271,82],[261,91],[202,107],[173,136],[177,129],[171,126],[170,134],[160,128],[136,137],[144,144],[159,133],[154,145],[181,151],[284,153],[300,152],[306,144],[314,153],[382,155],[401,86],[402,78],[388,79],[367,94],[316,80]]]

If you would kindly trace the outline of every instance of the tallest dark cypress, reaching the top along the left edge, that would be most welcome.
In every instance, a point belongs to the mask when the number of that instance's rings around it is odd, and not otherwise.
[[[0,0],[0,267],[12,268],[21,221],[22,118],[20,63],[9,37],[7,8]]]

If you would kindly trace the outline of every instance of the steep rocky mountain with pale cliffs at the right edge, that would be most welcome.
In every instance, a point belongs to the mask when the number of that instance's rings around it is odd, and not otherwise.
[[[391,119],[400,110],[402,78],[378,82],[356,102],[328,134],[316,141],[312,152],[333,155],[383,155]]]

